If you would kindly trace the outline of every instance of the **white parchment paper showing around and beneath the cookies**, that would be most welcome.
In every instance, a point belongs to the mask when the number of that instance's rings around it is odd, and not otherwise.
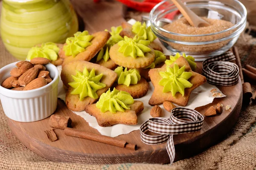
[[[135,22],[136,22],[136,20],[133,20],[133,19],[128,21],[128,23],[130,23],[130,24],[134,24]],[[156,39],[154,41],[158,42],[162,46],[165,55],[171,55],[171,52],[168,51],[160,43],[160,41],[158,39]],[[58,66],[57,68],[58,68],[59,72],[61,73],[61,66]],[[201,85],[198,88],[196,88],[195,90],[193,90],[189,97],[189,103],[185,108],[195,109],[197,107],[212,103],[212,101],[215,97],[212,97],[212,93],[210,91],[213,88],[217,89],[217,91],[219,93],[221,93],[221,91],[217,87],[215,87],[214,85],[210,85],[207,82],[204,83],[204,85]],[[127,134],[127,133],[130,133],[131,131],[140,129],[140,125],[142,125],[143,122],[145,122],[146,120],[151,118],[150,110],[151,110],[152,106],[148,105],[148,101],[149,101],[153,91],[154,91],[154,86],[152,85],[151,82],[149,82],[148,93],[140,99],[135,99],[135,100],[140,100],[141,102],[144,103],[144,110],[139,115],[137,115],[138,116],[138,124],[137,125],[121,125],[121,124],[119,124],[119,125],[113,125],[111,127],[101,127],[98,125],[96,118],[94,116],[90,116],[90,114],[86,113],[85,111],[74,112],[74,113],[76,113],[77,115],[84,118],[86,120],[86,122],[88,122],[91,127],[97,129],[99,131],[99,133],[101,133],[102,135],[115,137],[115,136],[119,136],[122,134]],[[63,83],[60,79],[60,82],[58,84],[58,98],[65,101],[65,96],[66,96],[66,90],[63,88]],[[222,94],[221,97],[224,97],[224,96],[225,95]],[[162,108],[162,111],[163,111],[162,117],[168,119],[170,113],[167,112],[163,108],[163,105],[160,105],[160,107]]]

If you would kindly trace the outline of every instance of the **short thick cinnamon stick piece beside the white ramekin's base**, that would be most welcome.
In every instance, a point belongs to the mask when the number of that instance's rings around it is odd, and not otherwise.
[[[49,119],[50,127],[57,129],[65,129],[66,127],[71,127],[71,119],[69,116],[61,116],[53,114]]]

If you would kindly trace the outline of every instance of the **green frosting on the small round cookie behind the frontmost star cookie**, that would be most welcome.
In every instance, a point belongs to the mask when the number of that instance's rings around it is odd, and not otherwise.
[[[136,85],[140,81],[140,72],[137,69],[130,69],[127,71],[127,68],[123,70],[122,66],[117,67],[114,70],[117,74],[116,81],[119,85]]]

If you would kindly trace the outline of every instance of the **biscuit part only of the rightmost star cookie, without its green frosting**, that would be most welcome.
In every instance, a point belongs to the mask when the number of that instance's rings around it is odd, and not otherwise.
[[[170,91],[163,93],[163,86],[159,85],[159,81],[162,79],[159,72],[166,71],[166,68],[153,68],[148,72],[151,82],[154,85],[154,92],[148,102],[149,105],[160,105],[164,101],[169,101],[180,106],[186,106],[192,90],[206,82],[206,77],[191,70],[189,63],[184,57],[179,57],[175,62],[172,63],[172,65],[169,66],[173,68],[175,63],[179,66],[179,68],[185,65],[185,71],[192,73],[192,76],[188,79],[189,82],[192,83],[192,87],[185,88],[184,96],[182,96],[179,92],[175,94],[175,97],[172,96],[172,92]]]

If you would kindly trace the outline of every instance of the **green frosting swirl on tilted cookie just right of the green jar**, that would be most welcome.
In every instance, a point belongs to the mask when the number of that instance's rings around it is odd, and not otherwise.
[[[92,35],[89,35],[88,31],[76,32],[75,37],[69,37],[66,40],[67,45],[64,45],[63,50],[66,56],[75,57],[77,54],[85,51],[85,48],[92,45],[90,40],[93,39]]]

